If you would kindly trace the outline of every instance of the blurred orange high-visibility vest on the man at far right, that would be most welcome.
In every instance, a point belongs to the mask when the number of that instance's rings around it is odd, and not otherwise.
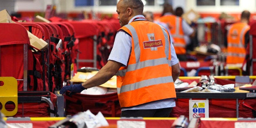
[[[245,60],[245,34],[250,29],[246,23],[234,23],[227,33],[227,64],[243,63]]]

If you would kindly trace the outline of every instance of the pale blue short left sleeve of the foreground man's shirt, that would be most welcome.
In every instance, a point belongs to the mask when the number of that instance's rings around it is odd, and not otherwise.
[[[124,31],[118,31],[108,60],[113,60],[123,64],[122,66],[127,66],[131,51],[131,40],[130,35]]]

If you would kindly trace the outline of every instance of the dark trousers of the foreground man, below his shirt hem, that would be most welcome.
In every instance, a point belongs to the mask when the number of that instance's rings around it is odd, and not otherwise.
[[[123,110],[121,117],[169,117],[172,108]]]

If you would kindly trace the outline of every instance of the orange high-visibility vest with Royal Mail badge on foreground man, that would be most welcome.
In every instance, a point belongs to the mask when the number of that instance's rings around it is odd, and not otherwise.
[[[121,108],[176,98],[168,31],[146,20],[133,21],[119,31],[132,37],[128,64],[117,72]]]

